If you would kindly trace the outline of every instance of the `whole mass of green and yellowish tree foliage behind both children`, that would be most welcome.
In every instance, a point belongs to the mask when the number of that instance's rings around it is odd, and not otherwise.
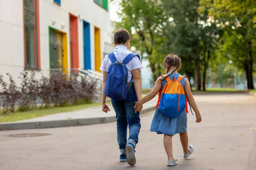
[[[201,82],[206,90],[209,64],[219,61],[244,70],[248,88],[254,88],[255,0],[120,0],[120,7],[117,28],[130,31],[132,45],[147,53],[154,80],[163,58],[175,53],[182,60],[181,73],[194,79],[197,90]]]

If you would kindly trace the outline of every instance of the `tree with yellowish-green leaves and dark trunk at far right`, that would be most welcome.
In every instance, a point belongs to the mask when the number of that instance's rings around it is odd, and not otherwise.
[[[218,20],[218,25],[227,33],[222,40],[225,57],[234,61],[236,67],[245,70],[247,88],[253,89],[256,2],[200,0],[200,4],[210,8],[210,15]]]

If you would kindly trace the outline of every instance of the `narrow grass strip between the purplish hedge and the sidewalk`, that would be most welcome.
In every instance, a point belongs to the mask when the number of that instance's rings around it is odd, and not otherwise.
[[[101,103],[86,103],[75,106],[55,107],[49,109],[35,109],[26,112],[14,112],[3,115],[0,111],[0,122],[23,121],[30,118],[38,118],[45,115],[53,115],[61,112],[72,112],[79,109],[87,109],[93,106],[100,106]]]

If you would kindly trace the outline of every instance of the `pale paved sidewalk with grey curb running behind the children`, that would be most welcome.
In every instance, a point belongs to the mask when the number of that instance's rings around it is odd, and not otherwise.
[[[157,96],[145,103],[142,114],[154,110]],[[24,130],[41,129],[51,127],[75,127],[89,124],[102,124],[116,121],[114,108],[110,105],[110,112],[102,112],[102,106],[81,109],[73,112],[64,112],[47,115],[40,118],[32,118],[24,121],[0,123],[0,130]]]

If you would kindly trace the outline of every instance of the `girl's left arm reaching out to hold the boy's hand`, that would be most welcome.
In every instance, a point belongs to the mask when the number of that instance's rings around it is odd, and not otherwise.
[[[143,97],[142,100],[139,100],[138,102],[136,102],[134,109],[137,110],[138,106],[142,106],[144,103],[153,99],[157,95],[158,91],[160,91],[162,81],[163,81],[162,76],[158,77],[157,82],[154,84],[154,88],[145,97]]]

